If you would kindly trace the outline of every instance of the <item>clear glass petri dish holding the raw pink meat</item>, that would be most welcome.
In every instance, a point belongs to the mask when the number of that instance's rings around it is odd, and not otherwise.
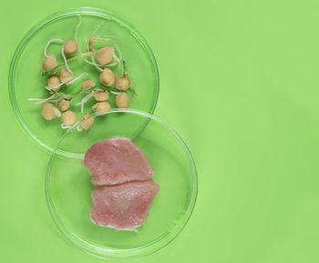
[[[197,197],[197,172],[190,150],[181,137],[165,122],[138,110],[111,110],[111,116],[130,116],[134,123],[149,122],[139,137],[130,137],[126,129],[108,127],[95,143],[111,137],[129,137],[147,157],[155,171],[153,180],[160,185],[139,233],[102,228],[89,219],[91,176],[81,160],[87,151],[86,137],[77,142],[77,154],[57,154],[72,140],[69,131],[61,138],[46,170],[46,204],[57,228],[77,248],[99,258],[129,259],[149,255],[165,247],[185,227]]]

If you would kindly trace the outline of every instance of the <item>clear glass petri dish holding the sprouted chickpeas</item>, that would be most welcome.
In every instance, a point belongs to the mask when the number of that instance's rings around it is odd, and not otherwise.
[[[131,108],[136,108],[148,113],[153,113],[159,96],[159,71],[155,57],[149,48],[144,37],[128,22],[108,11],[97,8],[79,7],[63,10],[55,15],[46,17],[43,21],[35,25],[22,39],[15,50],[10,70],[9,70],[9,96],[11,105],[15,111],[18,122],[39,146],[53,151],[59,139],[66,130],[60,127],[60,120],[56,117],[52,121],[46,121],[40,114],[41,105],[35,105],[35,102],[28,101],[28,98],[45,98],[50,96],[45,89],[46,77],[42,76],[42,61],[44,60],[44,46],[51,38],[60,38],[63,40],[74,39],[75,28],[79,21],[78,15],[82,17],[82,23],[78,28],[78,44],[81,52],[86,52],[85,38],[90,37],[94,30],[95,35],[110,35],[114,37],[120,47],[123,59],[127,62],[129,76],[133,86],[138,93],[134,96],[132,90],[128,91]],[[103,42],[97,42],[98,46],[105,46]],[[55,54],[58,61],[63,61],[60,55],[61,46],[52,44],[48,48],[48,54]],[[90,78],[99,85],[98,70],[91,65],[86,64],[80,59],[69,64],[74,72],[74,76],[87,72]],[[115,68],[113,67],[115,70]],[[82,81],[86,79],[83,78]],[[67,86],[67,93],[75,93],[80,90],[81,80],[73,85]],[[105,88],[105,87],[104,87]],[[108,88],[108,91],[116,90],[114,87]],[[80,98],[79,98],[80,100]],[[114,105],[114,95],[110,94],[109,103]],[[70,109],[77,113],[77,119],[80,117],[80,106],[75,106],[75,98]],[[90,99],[85,107],[84,114],[92,113],[91,106],[95,103]],[[118,118],[118,116],[109,117]],[[131,123],[130,116],[120,116],[120,122]],[[129,132],[134,135],[140,132],[147,125],[140,123],[140,126],[129,128]],[[113,124],[116,120],[111,121]],[[81,137],[99,137],[100,129],[104,129],[109,124],[97,120],[96,125],[89,131],[73,133],[73,141],[64,148],[59,149],[57,154],[72,155],[74,144]],[[87,141],[88,142],[88,141]]]

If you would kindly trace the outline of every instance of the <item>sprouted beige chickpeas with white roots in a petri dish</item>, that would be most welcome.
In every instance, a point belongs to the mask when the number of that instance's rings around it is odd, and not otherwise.
[[[81,18],[78,26],[81,23]],[[46,120],[52,120],[56,117],[60,117],[61,127],[70,128],[72,126],[79,126],[80,129],[89,129],[94,125],[94,117],[92,115],[84,115],[83,107],[86,101],[93,97],[96,103],[92,106],[94,113],[98,115],[107,114],[111,106],[108,103],[109,93],[106,88],[115,86],[118,92],[112,92],[115,95],[115,106],[117,108],[128,108],[129,96],[127,91],[131,88],[135,93],[135,89],[132,86],[129,75],[127,73],[127,66],[125,61],[121,61],[115,53],[115,47],[111,44],[114,42],[110,41],[110,45],[103,46],[97,51],[94,50],[94,42],[98,40],[110,40],[104,39],[98,36],[93,36],[89,39],[89,46],[87,45],[87,53],[81,53],[77,44],[77,28],[76,28],[76,40],[63,41],[61,39],[51,39],[45,48],[45,60],[42,63],[44,75],[46,79],[46,89],[50,93],[50,97],[47,99],[38,99],[42,103],[41,115]],[[64,58],[63,63],[57,62],[55,55],[47,55],[46,49],[51,42],[57,42],[61,44],[61,53]],[[118,48],[118,46],[116,46]],[[119,49],[117,50],[119,51]],[[120,51],[119,51],[120,52]],[[87,57],[91,58],[89,61]],[[99,71],[99,85],[97,86],[91,79],[82,81],[81,90],[76,94],[67,94],[63,92],[64,87],[73,84],[82,76],[88,76],[88,73],[84,73],[81,76],[74,77],[73,72],[68,66],[68,62],[76,59],[83,59],[88,64],[95,66]],[[123,75],[119,76],[119,68],[121,64],[124,67]],[[107,66],[118,65],[118,76],[115,72],[109,69]],[[62,92],[61,92],[62,90]],[[77,120],[77,113],[70,110],[72,100],[75,96],[83,96],[81,103],[81,116]]]

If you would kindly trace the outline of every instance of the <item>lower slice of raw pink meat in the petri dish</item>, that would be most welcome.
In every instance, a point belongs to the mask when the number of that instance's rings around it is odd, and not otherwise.
[[[98,226],[134,230],[147,219],[159,190],[160,186],[152,180],[98,187],[91,194],[90,218]]]

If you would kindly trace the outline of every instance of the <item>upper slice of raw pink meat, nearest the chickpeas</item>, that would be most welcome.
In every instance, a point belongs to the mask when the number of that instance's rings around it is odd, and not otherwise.
[[[113,137],[87,150],[83,165],[93,176],[95,186],[118,185],[154,177],[154,170],[139,149],[128,138]]]

